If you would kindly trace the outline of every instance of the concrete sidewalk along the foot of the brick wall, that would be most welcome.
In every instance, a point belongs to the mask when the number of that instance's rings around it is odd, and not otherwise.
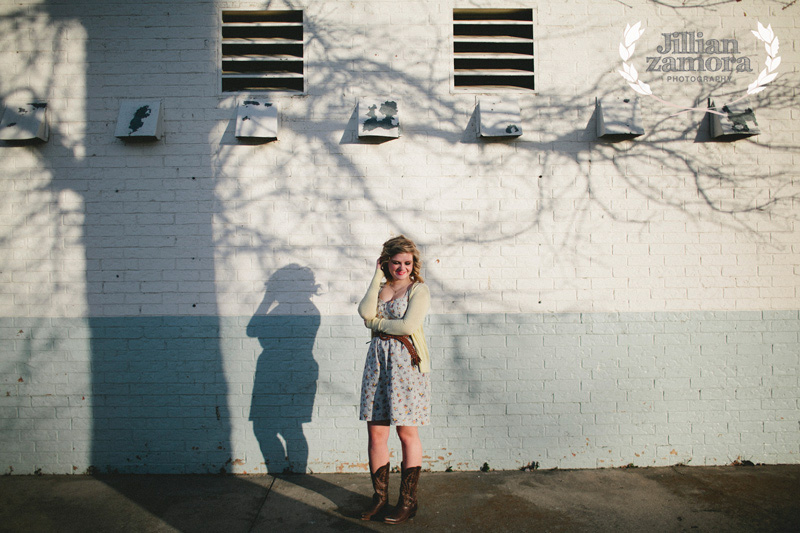
[[[399,474],[392,474],[391,503]],[[366,474],[5,476],[1,531],[798,531],[800,465],[424,473],[420,511],[357,517]]]

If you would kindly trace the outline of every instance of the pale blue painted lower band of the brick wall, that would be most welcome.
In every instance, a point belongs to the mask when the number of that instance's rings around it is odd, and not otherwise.
[[[36,354],[4,354],[4,469],[363,471],[358,322],[6,319]],[[799,329],[796,311],[434,315],[425,465],[795,462]]]

